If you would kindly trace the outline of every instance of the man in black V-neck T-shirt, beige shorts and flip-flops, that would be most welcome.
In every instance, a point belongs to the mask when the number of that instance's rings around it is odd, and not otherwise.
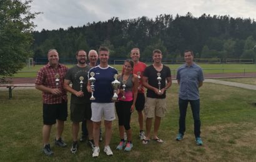
[[[150,129],[152,119],[154,123],[154,140],[158,143],[163,143],[157,136],[160,126],[160,120],[164,117],[165,112],[165,91],[172,85],[170,68],[162,64],[162,52],[159,49],[153,51],[152,59],[154,63],[145,68],[142,84],[147,88],[147,98],[145,100],[145,125],[146,135],[142,140],[143,144],[149,143]],[[167,83],[165,82],[167,80]]]

